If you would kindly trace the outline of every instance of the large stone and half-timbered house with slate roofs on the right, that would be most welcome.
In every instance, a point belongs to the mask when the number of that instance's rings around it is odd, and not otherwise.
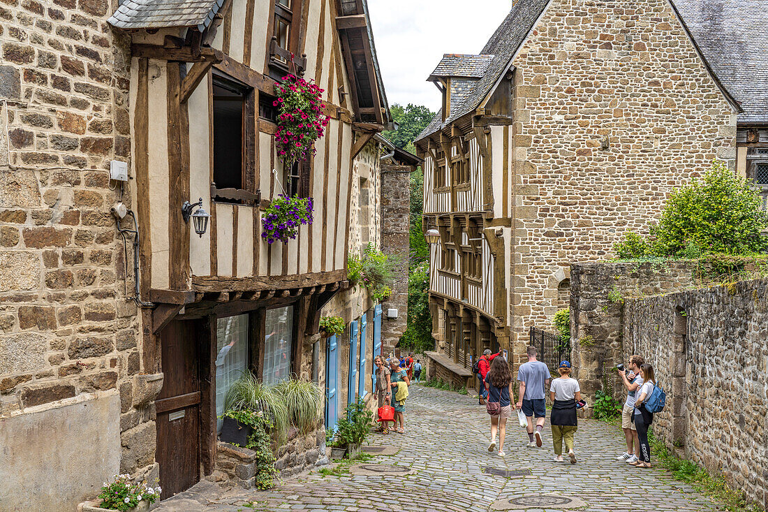
[[[763,182],[765,16],[760,2],[520,0],[478,55],[444,56],[429,77],[443,108],[416,145],[439,240],[433,357],[452,381],[485,348],[525,361],[531,327],[568,306],[569,262],[647,231],[716,158]]]

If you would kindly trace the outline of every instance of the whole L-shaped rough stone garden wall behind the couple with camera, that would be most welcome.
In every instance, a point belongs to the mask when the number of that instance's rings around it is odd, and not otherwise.
[[[703,287],[707,264],[571,265],[574,377],[588,401],[626,391],[614,367],[640,354],[667,406],[654,434],[768,505],[768,279]]]

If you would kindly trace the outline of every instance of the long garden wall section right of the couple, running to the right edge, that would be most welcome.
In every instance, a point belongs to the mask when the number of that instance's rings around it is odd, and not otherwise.
[[[654,434],[768,507],[768,279],[627,298],[624,354],[667,391]]]

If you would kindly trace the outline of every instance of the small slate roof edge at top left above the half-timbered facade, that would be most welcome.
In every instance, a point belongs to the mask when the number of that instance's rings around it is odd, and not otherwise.
[[[108,19],[117,28],[197,27],[202,32],[224,0],[125,0]]]

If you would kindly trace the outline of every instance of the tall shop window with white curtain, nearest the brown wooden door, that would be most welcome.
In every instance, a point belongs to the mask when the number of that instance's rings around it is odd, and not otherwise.
[[[219,318],[216,325],[216,416],[224,412],[224,400],[232,384],[248,367],[248,315]],[[217,420],[217,431],[221,420]]]

